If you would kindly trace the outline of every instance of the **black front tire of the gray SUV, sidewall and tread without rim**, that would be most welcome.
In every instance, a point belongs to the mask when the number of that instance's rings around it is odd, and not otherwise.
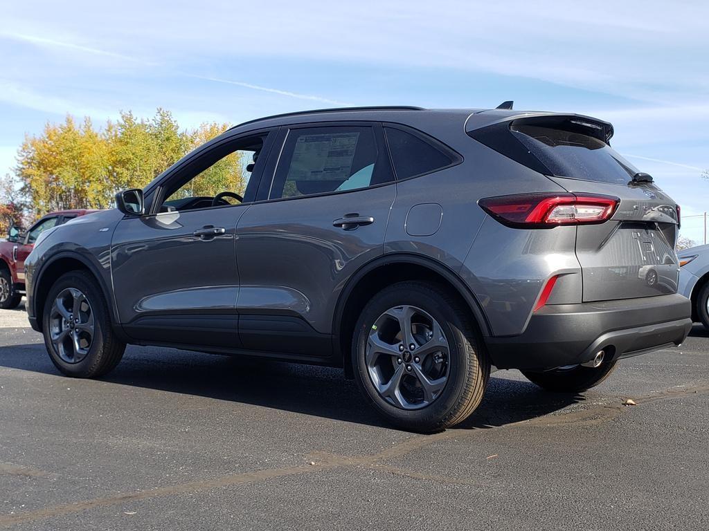
[[[94,336],[88,353],[82,360],[67,362],[62,359],[50,338],[51,311],[57,296],[67,289],[82,292],[90,304],[94,318]],[[108,312],[106,299],[101,287],[89,273],[77,270],[65,273],[52,286],[45,302],[42,328],[45,346],[54,365],[67,376],[77,378],[94,378],[106,375],[113,370],[123,358],[125,343],[116,338],[111,328],[111,316]]]

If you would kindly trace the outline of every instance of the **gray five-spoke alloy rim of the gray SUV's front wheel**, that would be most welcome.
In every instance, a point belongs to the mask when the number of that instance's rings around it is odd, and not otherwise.
[[[86,358],[96,331],[94,312],[83,292],[62,290],[50,310],[50,339],[56,353],[67,363]]]

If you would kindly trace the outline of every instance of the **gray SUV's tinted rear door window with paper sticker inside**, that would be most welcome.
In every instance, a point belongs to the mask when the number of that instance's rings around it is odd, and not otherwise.
[[[372,127],[305,127],[289,131],[269,198],[345,192],[392,180]]]

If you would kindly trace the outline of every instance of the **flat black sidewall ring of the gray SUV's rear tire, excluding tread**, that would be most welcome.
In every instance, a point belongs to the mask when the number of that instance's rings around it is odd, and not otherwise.
[[[448,381],[442,394],[430,406],[413,410],[393,406],[379,395],[369,378],[369,371],[364,360],[369,330],[376,319],[386,310],[406,304],[422,309],[438,321],[450,348]],[[453,309],[445,300],[435,297],[429,290],[417,289],[414,285],[407,285],[404,290],[402,287],[394,285],[380,292],[379,295],[372,298],[362,315],[359,316],[352,339],[354,377],[360,389],[364,391],[367,401],[393,423],[404,426],[421,426],[422,429],[437,423],[458,404],[467,384],[471,360],[465,346],[465,343],[469,341],[464,336],[463,329],[464,326]],[[476,346],[473,347],[477,351]]]

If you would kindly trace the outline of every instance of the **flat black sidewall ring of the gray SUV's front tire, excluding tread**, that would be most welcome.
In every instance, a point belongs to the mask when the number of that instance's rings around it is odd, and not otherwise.
[[[86,298],[89,299],[91,311],[94,313],[94,338],[91,341],[89,353],[86,354],[86,357],[78,363],[69,363],[62,360],[50,339],[50,309],[52,308],[52,304],[54,304],[57,295],[59,295],[62,290],[67,289],[67,287],[75,287],[77,290],[83,292],[84,295],[86,295]],[[103,293],[101,293],[101,290],[96,285],[96,282],[94,282],[91,278],[88,278],[86,275],[77,272],[67,273],[62,275],[62,277],[55,282],[45,302],[42,318],[42,331],[47,352],[49,353],[50,359],[57,369],[67,376],[75,377],[85,377],[96,372],[96,367],[100,362],[99,358],[101,351],[104,349],[104,339],[107,326],[106,312],[106,302],[104,301]]]

